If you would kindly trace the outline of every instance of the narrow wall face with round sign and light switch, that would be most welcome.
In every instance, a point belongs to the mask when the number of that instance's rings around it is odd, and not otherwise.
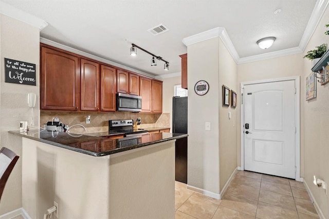
[[[219,125],[220,82],[218,76],[219,38],[188,46],[188,185],[214,194],[220,193]],[[199,80],[209,83],[209,91],[198,96],[193,91]],[[205,130],[211,122],[211,130]]]

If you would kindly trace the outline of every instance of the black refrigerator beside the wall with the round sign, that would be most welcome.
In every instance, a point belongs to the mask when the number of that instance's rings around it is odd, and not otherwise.
[[[173,97],[173,133],[187,134],[187,97]],[[175,142],[175,180],[187,184],[187,137]]]

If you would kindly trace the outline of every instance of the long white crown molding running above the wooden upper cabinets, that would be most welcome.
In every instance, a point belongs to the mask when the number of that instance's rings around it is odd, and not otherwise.
[[[133,71],[133,72],[138,73],[138,74],[143,75],[143,76],[147,76],[147,77],[150,77],[150,78],[155,78],[154,75],[147,74],[143,71],[140,71],[140,70],[137,70],[137,69],[134,69],[134,68],[131,68],[131,67],[127,67],[125,65],[121,65],[119,63],[112,62],[112,61],[109,61],[107,59],[100,58],[98,56],[94,56],[93,54],[89,54],[87,52],[84,52],[84,51],[81,51],[81,50],[78,50],[78,49],[75,49],[75,48],[72,48],[72,47],[69,47],[69,46],[65,46],[63,44],[60,44],[60,43],[57,43],[57,42],[54,42],[54,41],[51,41],[51,40],[48,40],[48,39],[45,39],[45,38],[42,38],[42,37],[40,38],[40,43],[44,43],[44,44],[47,44],[49,46],[53,46],[53,47],[56,47],[56,48],[59,48],[59,49],[63,49],[65,51],[73,52],[73,53],[79,54],[80,56],[84,56],[84,57],[87,57],[87,58],[90,58],[90,59],[94,59],[94,60],[97,60],[97,61],[100,61],[100,62],[104,62],[106,64],[113,65],[113,66],[116,66],[116,67],[119,67],[119,68],[122,68],[122,69],[125,69],[125,70]]]

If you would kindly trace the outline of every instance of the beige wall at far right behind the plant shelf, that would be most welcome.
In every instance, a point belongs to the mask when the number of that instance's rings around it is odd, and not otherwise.
[[[329,45],[329,35],[324,32],[329,28],[324,25],[329,23],[329,8],[318,24],[312,38],[306,46],[306,51],[315,49],[323,43]],[[320,207],[322,216],[329,218],[329,193],[313,184],[313,175],[323,179],[329,184],[329,84],[317,83],[317,98],[305,100],[305,78],[311,73],[311,61],[301,59],[302,71],[302,96],[301,107],[304,108],[304,181],[312,192],[316,204]],[[318,75],[319,76],[319,75]]]

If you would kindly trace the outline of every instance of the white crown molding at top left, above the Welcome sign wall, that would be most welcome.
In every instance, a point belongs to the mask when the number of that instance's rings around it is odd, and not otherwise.
[[[11,5],[8,5],[1,1],[0,1],[0,13],[12,17],[13,19],[24,22],[26,24],[29,24],[33,27],[39,28],[40,31],[48,26],[48,23],[40,19],[39,17],[36,17],[20,9],[14,8]]]

